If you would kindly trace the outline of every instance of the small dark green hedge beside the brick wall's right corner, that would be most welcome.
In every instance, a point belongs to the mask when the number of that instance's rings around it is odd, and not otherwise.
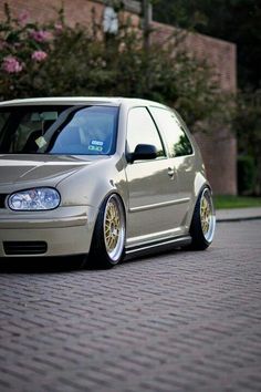
[[[238,157],[238,193],[240,195],[251,195],[254,190],[257,171],[252,156],[244,155]]]

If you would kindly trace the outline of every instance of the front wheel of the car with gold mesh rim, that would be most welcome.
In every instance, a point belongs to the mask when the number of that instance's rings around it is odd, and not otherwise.
[[[102,204],[94,227],[86,266],[112,268],[125,255],[125,212],[118,195],[109,195]]]

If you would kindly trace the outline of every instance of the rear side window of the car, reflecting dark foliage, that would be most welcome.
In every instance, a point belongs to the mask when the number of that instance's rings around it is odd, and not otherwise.
[[[156,123],[165,134],[171,157],[191,155],[192,146],[175,113],[160,107],[150,107]]]

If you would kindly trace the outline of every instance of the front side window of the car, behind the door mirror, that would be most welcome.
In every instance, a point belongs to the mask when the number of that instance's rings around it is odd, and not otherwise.
[[[146,107],[134,107],[128,113],[128,152],[133,153],[138,144],[153,144],[157,148],[158,157],[166,155],[156,125]]]

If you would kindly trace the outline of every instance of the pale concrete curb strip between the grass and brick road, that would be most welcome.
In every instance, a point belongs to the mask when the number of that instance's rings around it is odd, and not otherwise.
[[[217,209],[217,221],[261,219],[261,207]]]

